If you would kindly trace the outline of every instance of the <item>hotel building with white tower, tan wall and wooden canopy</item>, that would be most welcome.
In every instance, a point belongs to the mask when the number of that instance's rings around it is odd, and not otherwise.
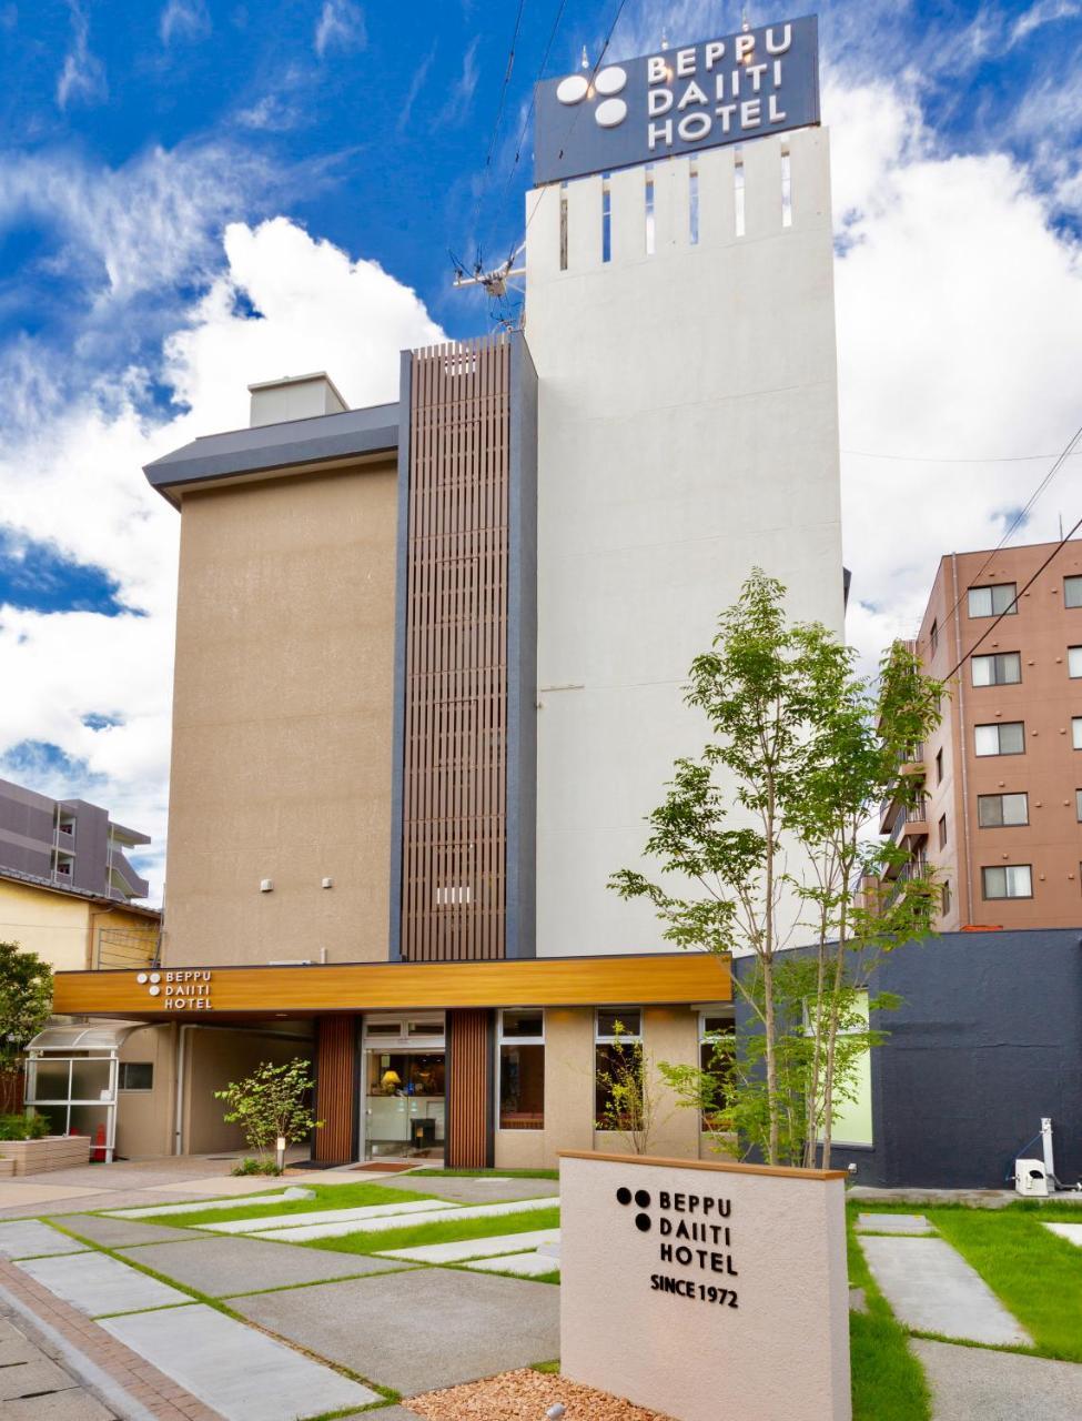
[[[606,882],[750,570],[842,632],[828,135],[527,215],[523,331],[403,352],[390,405],[254,387],[146,469],[180,520],[162,959],[57,1002],[168,1037],[168,1148],[231,1142],[213,1088],[311,1053],[318,1160],[545,1167],[618,1147],[616,1023],[653,1070],[731,1017],[728,963]],[[697,1155],[694,1111],[655,1147]]]

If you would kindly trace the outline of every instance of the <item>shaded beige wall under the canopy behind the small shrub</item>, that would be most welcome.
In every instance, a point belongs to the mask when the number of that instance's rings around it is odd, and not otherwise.
[[[263,1061],[280,1066],[297,1056],[311,1060],[310,1040],[257,1030],[189,1029],[185,1050],[185,1154],[240,1150],[244,1144],[240,1130],[223,1123],[224,1103],[214,1100],[214,1091],[250,1076]]]

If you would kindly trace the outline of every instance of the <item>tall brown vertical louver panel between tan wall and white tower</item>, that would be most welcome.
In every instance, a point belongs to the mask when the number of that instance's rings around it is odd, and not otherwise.
[[[402,934],[409,962],[506,955],[510,344],[415,351]]]

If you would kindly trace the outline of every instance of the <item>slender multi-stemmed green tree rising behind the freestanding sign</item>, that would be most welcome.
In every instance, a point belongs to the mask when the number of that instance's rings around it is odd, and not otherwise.
[[[870,953],[929,931],[927,868],[910,865],[890,897],[870,905],[860,878],[907,857],[869,841],[866,826],[899,762],[937,723],[941,695],[903,647],[892,648],[878,684],[859,676],[853,651],[822,624],[787,620],[784,594],[755,568],[721,614],[711,649],[692,664],[686,701],[704,713],[710,740],[697,759],[676,762],[647,816],[646,853],[670,877],[625,868],[611,880],[622,897],[653,902],[669,941],[753,958],[734,986],[758,1023],[761,1061],[753,1076],[738,1073],[733,1091],[761,1096],[771,1164],[792,1160],[797,1141],[797,1162],[814,1157],[821,1120],[829,1158],[846,963],[866,973]],[[919,793],[906,780],[899,797],[909,806]],[[798,931],[818,956],[811,1002],[794,1015],[778,996],[778,953],[801,945]],[[789,1128],[794,1096],[782,1070],[802,1057],[805,1118]],[[761,1087],[751,1084],[757,1076]]]

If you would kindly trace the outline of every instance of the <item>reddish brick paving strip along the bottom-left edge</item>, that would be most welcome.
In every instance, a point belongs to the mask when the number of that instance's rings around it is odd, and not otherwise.
[[[77,1309],[0,1259],[0,1299],[27,1319],[81,1381],[129,1421],[222,1421]]]

